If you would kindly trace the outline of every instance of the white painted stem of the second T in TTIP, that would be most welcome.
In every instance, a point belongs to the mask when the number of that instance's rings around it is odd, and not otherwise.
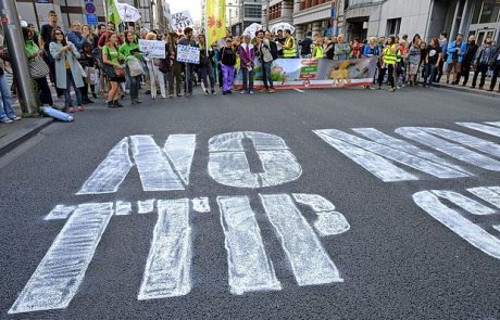
[[[158,220],[139,300],[186,295],[191,291],[189,200],[159,200]]]

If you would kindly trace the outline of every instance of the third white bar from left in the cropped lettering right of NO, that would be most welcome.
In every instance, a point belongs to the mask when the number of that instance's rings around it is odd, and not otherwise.
[[[395,132],[473,166],[488,170],[500,171],[500,162],[468,150],[458,143],[452,143],[443,139],[436,138],[435,136],[425,132],[421,128],[402,127],[396,129]]]

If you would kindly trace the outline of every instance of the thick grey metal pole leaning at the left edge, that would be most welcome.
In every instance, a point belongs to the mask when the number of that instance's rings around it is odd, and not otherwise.
[[[32,114],[37,110],[37,99],[33,90],[33,80],[29,75],[28,60],[15,1],[0,0],[0,16],[7,48],[14,61],[12,69],[17,81],[21,108],[23,113]]]

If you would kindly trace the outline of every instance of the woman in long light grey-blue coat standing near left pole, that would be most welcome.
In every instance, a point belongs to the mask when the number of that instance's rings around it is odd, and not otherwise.
[[[84,102],[79,88],[84,87],[82,67],[78,63],[79,52],[75,44],[66,41],[63,31],[54,28],[52,31],[52,42],[50,42],[50,54],[55,60],[57,86],[64,90],[65,108],[70,113],[75,112],[71,99],[71,87],[76,94],[77,111],[84,111]]]

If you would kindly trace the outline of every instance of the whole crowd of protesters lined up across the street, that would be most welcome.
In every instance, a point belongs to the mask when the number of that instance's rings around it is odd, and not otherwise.
[[[388,38],[359,38],[347,41],[342,35],[332,38],[309,34],[298,41],[289,29],[271,33],[259,30],[255,35],[226,37],[208,43],[204,35],[193,36],[193,30],[185,28],[183,35],[161,34],[146,28],[137,30],[126,27],[122,33],[112,23],[98,25],[93,30],[78,21],[71,22],[66,33],[58,25],[58,14],[49,13],[49,23],[38,33],[33,24],[23,27],[25,49],[30,65],[34,88],[40,106],[55,106],[50,84],[55,88],[59,99],[64,99],[68,112],[83,112],[86,104],[93,103],[99,90],[111,108],[123,107],[123,99],[130,104],[139,104],[140,88],[152,99],[192,94],[193,86],[200,84],[204,94],[233,93],[237,73],[241,73],[241,94],[254,93],[254,61],[262,65],[262,92],[274,93],[271,74],[276,59],[329,59],[334,61],[363,57],[377,59],[377,73],[371,89],[379,90],[388,84],[393,92],[404,86],[430,87],[446,76],[450,85],[466,86],[470,73],[474,71],[472,88],[478,85],[485,89],[488,72],[492,73],[490,87],[496,87],[500,71],[500,46],[493,46],[491,38],[484,43],[475,43],[474,36],[463,39],[458,35],[448,41],[447,35],[432,38],[428,43],[415,35],[411,41],[408,36]],[[139,39],[161,40],[165,43],[164,59],[148,59],[139,47]],[[1,39],[0,39],[1,40]],[[177,61],[177,46],[198,47],[200,63]],[[0,121],[11,123],[20,119],[12,108],[12,98],[4,77],[4,64],[9,54],[0,43]],[[42,66],[47,66],[47,73]],[[480,74],[480,78],[478,80]],[[48,80],[49,79],[49,80]],[[15,89],[15,81],[13,84]],[[184,88],[184,90],[182,90]],[[71,92],[74,92],[75,100]],[[499,89],[500,91],[500,86]],[[184,91],[184,92],[183,92]],[[128,97],[127,97],[128,94]]]

